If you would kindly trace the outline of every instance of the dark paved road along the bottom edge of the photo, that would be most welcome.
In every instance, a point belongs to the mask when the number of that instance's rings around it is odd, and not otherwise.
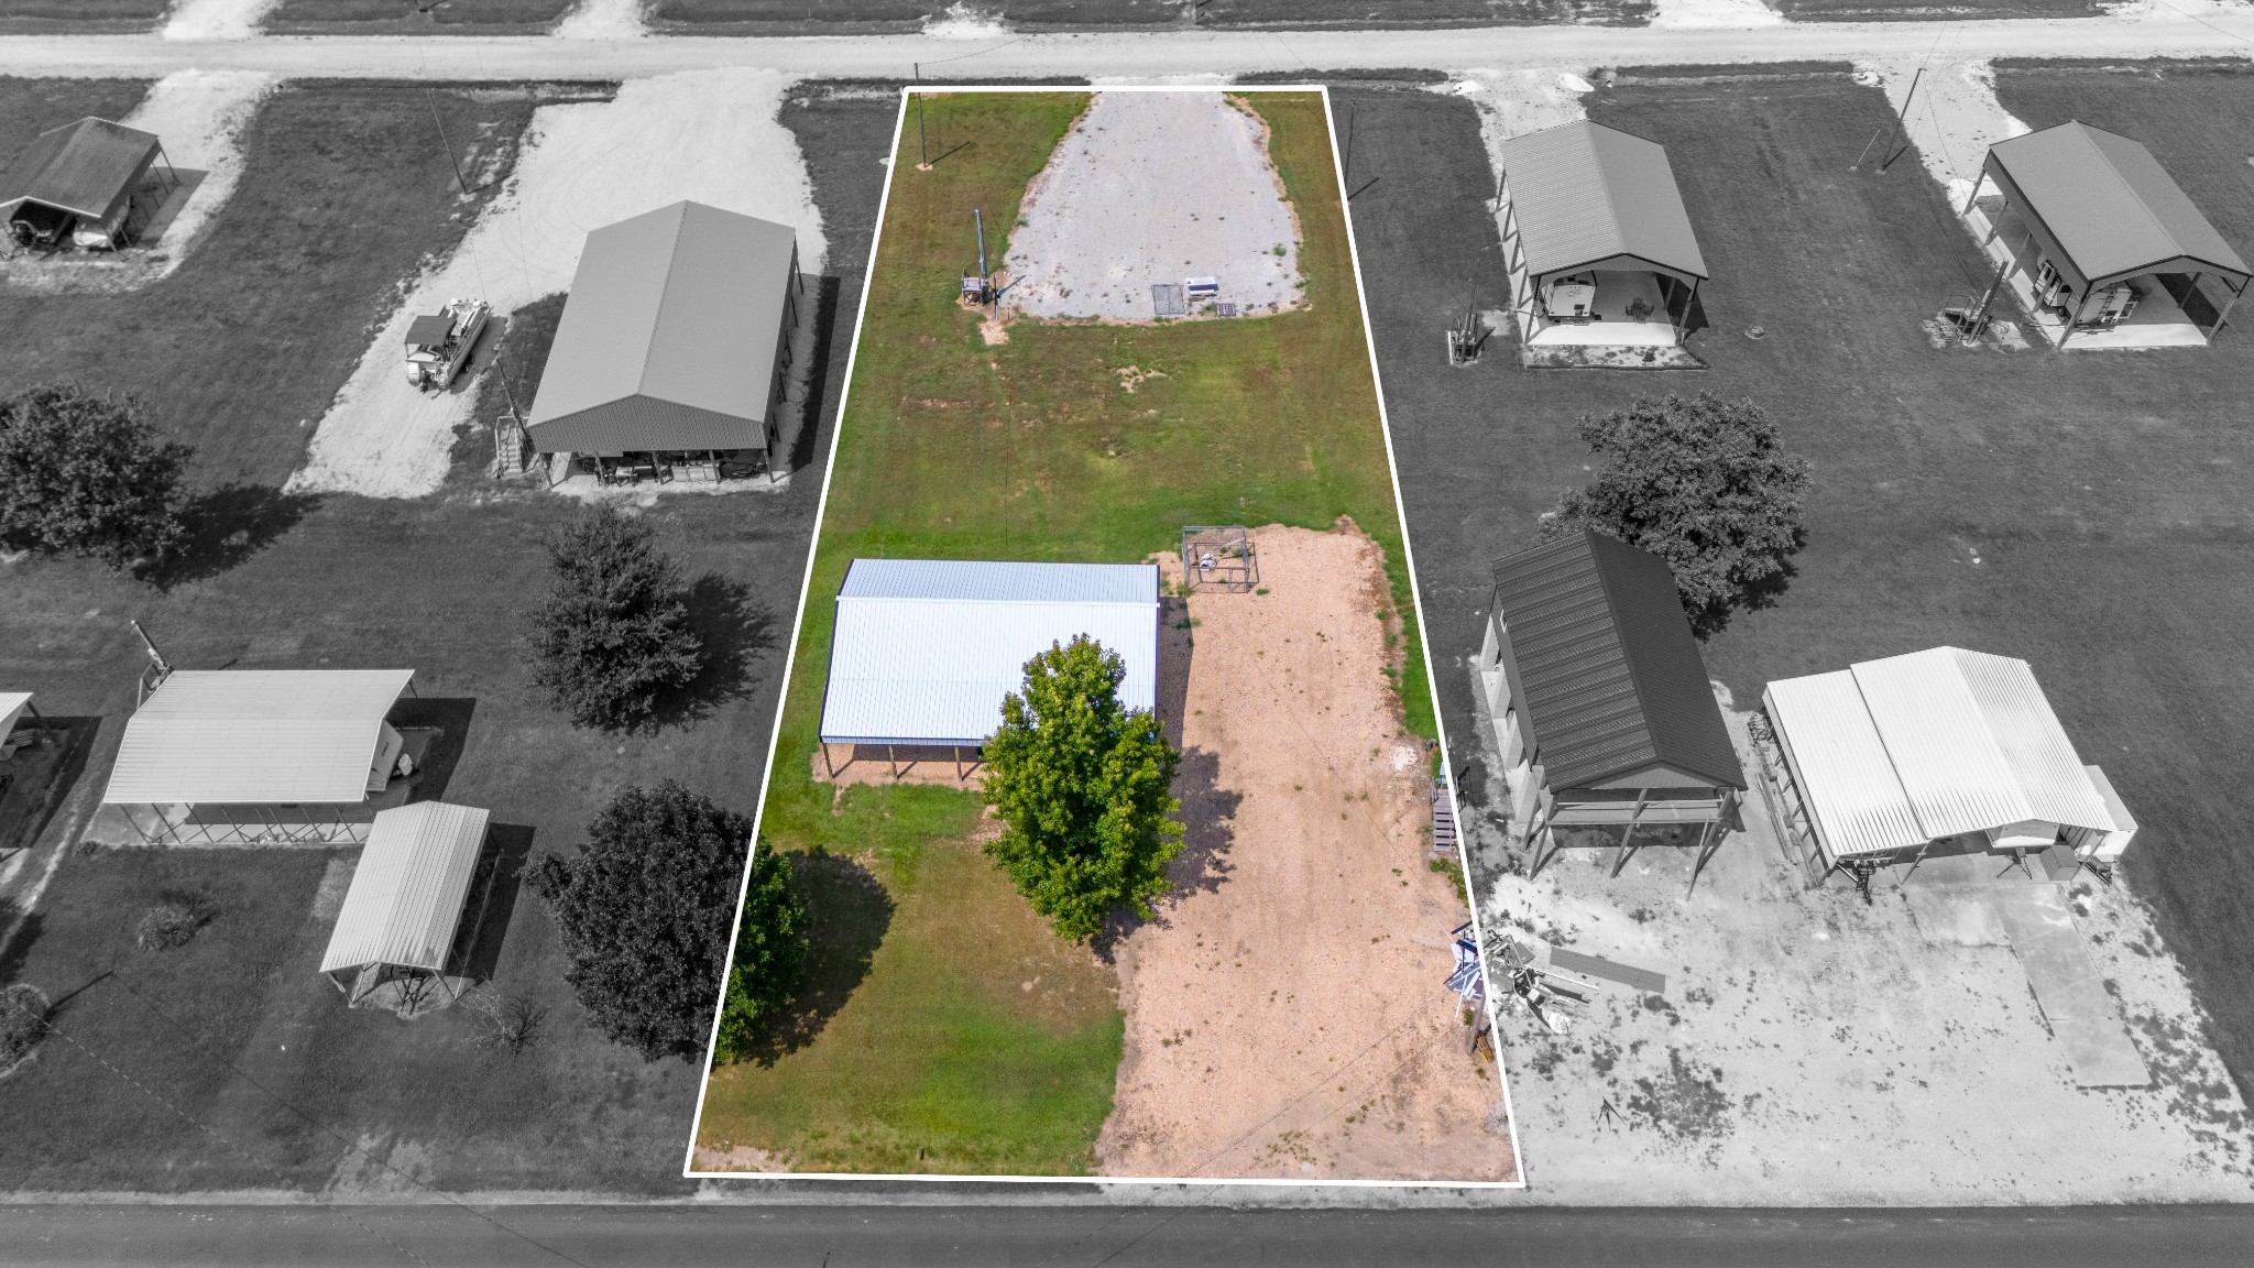
[[[2245,1263],[2254,1207],[1222,1212],[1116,1207],[0,1207],[0,1263],[1145,1268]]]

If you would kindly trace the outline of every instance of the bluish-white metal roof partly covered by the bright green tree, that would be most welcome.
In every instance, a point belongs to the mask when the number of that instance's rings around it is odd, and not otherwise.
[[[886,760],[949,749],[960,763],[1001,727],[1026,661],[1082,634],[1120,657],[1120,704],[1154,711],[1156,566],[854,560],[829,639],[823,758],[829,745],[870,745]]]

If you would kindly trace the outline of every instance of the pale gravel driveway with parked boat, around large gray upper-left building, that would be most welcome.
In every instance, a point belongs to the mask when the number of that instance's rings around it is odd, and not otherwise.
[[[291,490],[424,496],[446,478],[476,384],[424,395],[403,381],[406,327],[458,296],[494,316],[570,289],[586,232],[694,199],[798,230],[800,268],[827,257],[805,158],[775,122],[784,79],[710,70],[638,79],[613,102],[541,106],[507,192],[442,264],[412,282],[313,433]],[[530,402],[527,402],[530,406]]]

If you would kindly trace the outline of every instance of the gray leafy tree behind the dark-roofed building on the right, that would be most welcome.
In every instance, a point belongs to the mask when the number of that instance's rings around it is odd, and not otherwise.
[[[1659,555],[1700,639],[1785,580],[1805,539],[1810,478],[1760,406],[1709,393],[1636,397],[1582,417],[1580,438],[1605,467],[1542,517],[1544,539],[1596,528]]]

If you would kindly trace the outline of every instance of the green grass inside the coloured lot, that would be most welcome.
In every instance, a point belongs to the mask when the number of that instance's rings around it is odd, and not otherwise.
[[[1021,320],[987,347],[956,302],[969,210],[1014,223],[1084,102],[938,97],[933,133],[967,144],[933,171],[895,162],[764,812],[778,848],[857,860],[893,909],[827,1027],[771,1065],[712,1074],[703,1146],[755,1146],[798,1171],[1082,1173],[1111,1108],[1111,970],[1059,945],[967,844],[978,799],[834,799],[811,778],[832,600],[854,557],[1138,562],[1174,548],[1183,523],[1352,517],[1411,611],[1321,97],[1253,97],[1305,235],[1305,309],[1168,327]],[[1125,393],[1127,366],[1165,379]],[[1431,733],[1413,625],[1406,715]]]

